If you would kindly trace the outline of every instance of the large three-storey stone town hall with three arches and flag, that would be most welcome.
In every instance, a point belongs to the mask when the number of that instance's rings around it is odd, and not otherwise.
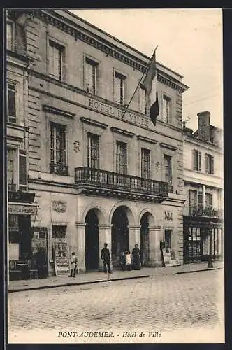
[[[13,24],[25,16],[9,15]],[[67,10],[26,18],[32,254],[47,249],[52,275],[57,241],[82,271],[101,269],[104,242],[115,268],[138,243],[144,265],[161,266],[165,240],[182,263],[182,76],[157,63],[156,127],[143,85],[123,116],[149,57]]]

